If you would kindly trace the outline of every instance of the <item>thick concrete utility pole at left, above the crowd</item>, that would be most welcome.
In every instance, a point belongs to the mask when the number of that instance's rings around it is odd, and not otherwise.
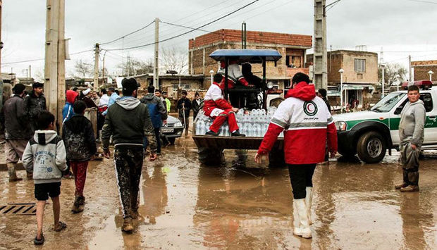
[[[46,55],[44,93],[48,109],[62,125],[66,101],[65,0],[47,0]]]

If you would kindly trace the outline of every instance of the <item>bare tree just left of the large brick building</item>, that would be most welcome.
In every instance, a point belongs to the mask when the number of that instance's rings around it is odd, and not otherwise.
[[[179,74],[188,72],[188,52],[185,49],[171,47],[170,49],[162,48],[159,55],[159,65],[161,70],[175,70]]]

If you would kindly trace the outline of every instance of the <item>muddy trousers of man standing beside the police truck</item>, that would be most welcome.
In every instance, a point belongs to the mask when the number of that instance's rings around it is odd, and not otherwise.
[[[411,143],[400,144],[400,163],[404,182],[408,185],[419,185],[419,154],[420,147],[412,149]]]

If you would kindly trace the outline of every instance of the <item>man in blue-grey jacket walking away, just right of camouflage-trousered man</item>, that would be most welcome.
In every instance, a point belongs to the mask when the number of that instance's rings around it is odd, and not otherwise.
[[[159,91],[159,89],[157,89]],[[161,154],[161,139],[159,138],[159,133],[161,127],[167,123],[167,111],[166,107],[164,107],[164,103],[161,99],[156,96],[155,87],[150,85],[147,87],[147,94],[140,99],[142,104],[146,104],[149,109],[150,119],[152,120],[152,125],[154,127],[154,133],[156,137],[156,154]]]

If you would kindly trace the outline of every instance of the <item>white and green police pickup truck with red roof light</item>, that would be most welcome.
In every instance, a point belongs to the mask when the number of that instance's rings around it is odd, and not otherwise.
[[[426,110],[422,150],[437,149],[437,87],[430,81],[417,81]],[[404,83],[402,87],[406,87]],[[338,152],[349,158],[358,154],[365,163],[378,163],[391,149],[399,150],[400,112],[407,103],[407,90],[391,92],[370,111],[334,115]]]

